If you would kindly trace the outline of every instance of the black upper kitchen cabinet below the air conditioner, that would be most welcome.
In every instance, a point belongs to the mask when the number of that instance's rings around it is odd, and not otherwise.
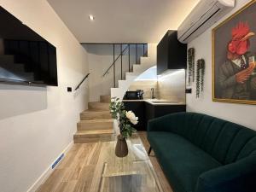
[[[177,40],[177,31],[169,30],[157,45],[157,74],[167,69],[187,67],[187,44]]]

